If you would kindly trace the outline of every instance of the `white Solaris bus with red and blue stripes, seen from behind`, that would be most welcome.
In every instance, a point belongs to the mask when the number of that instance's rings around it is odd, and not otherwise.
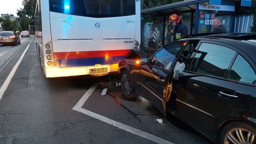
[[[108,75],[140,45],[140,0],[37,0],[36,47],[46,77]]]

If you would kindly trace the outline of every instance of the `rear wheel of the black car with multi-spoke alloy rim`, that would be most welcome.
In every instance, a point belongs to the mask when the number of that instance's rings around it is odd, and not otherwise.
[[[255,126],[243,122],[233,122],[223,129],[219,143],[254,143],[256,142],[255,137]],[[254,138],[254,141],[251,141],[252,138]]]

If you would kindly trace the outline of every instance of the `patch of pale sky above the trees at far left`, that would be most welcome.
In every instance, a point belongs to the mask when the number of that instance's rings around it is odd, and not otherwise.
[[[13,14],[17,17],[17,9],[23,8],[22,0],[0,0],[0,17],[1,14]]]

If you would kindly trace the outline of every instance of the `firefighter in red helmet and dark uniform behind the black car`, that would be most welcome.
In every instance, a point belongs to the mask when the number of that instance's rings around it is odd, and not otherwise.
[[[169,18],[169,22],[172,22],[172,26],[175,27],[170,31],[173,35],[173,41],[188,35],[188,27],[182,24],[181,19],[177,14],[172,14]]]

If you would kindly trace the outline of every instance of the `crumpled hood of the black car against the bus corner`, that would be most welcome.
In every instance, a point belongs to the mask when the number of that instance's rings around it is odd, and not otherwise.
[[[127,59],[139,59],[139,58],[145,58],[145,57],[149,57],[150,55],[154,54],[156,50],[141,50],[141,49],[137,49],[137,50],[131,50],[129,53],[127,53],[125,55],[125,57]]]

